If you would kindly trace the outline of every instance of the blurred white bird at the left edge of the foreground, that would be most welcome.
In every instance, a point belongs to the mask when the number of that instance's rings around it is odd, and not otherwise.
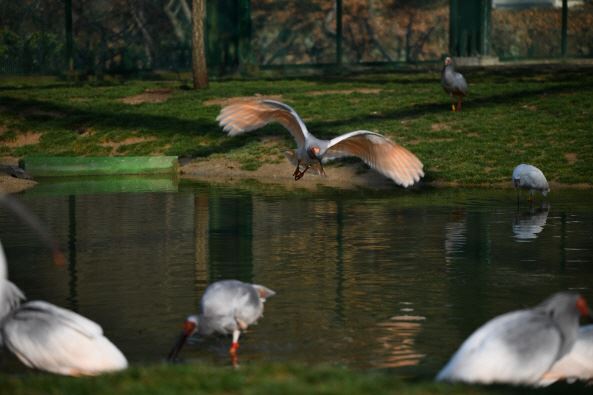
[[[0,243],[0,340],[25,365],[80,376],[125,369],[126,358],[99,325],[43,301],[20,304],[21,290],[6,279]]]

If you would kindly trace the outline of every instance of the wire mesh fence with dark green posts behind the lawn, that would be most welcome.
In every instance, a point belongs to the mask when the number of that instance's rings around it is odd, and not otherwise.
[[[209,0],[213,74],[248,63],[289,65],[437,62],[450,51],[454,0]],[[455,0],[467,8],[464,0]],[[466,0],[471,1],[471,0]],[[79,75],[191,68],[191,1],[72,1]],[[593,1],[482,0],[500,59],[593,57]],[[67,69],[64,0],[0,0],[0,73]],[[564,34],[564,37],[563,37]],[[565,40],[565,44],[563,44]],[[563,45],[565,48],[563,48]]]

